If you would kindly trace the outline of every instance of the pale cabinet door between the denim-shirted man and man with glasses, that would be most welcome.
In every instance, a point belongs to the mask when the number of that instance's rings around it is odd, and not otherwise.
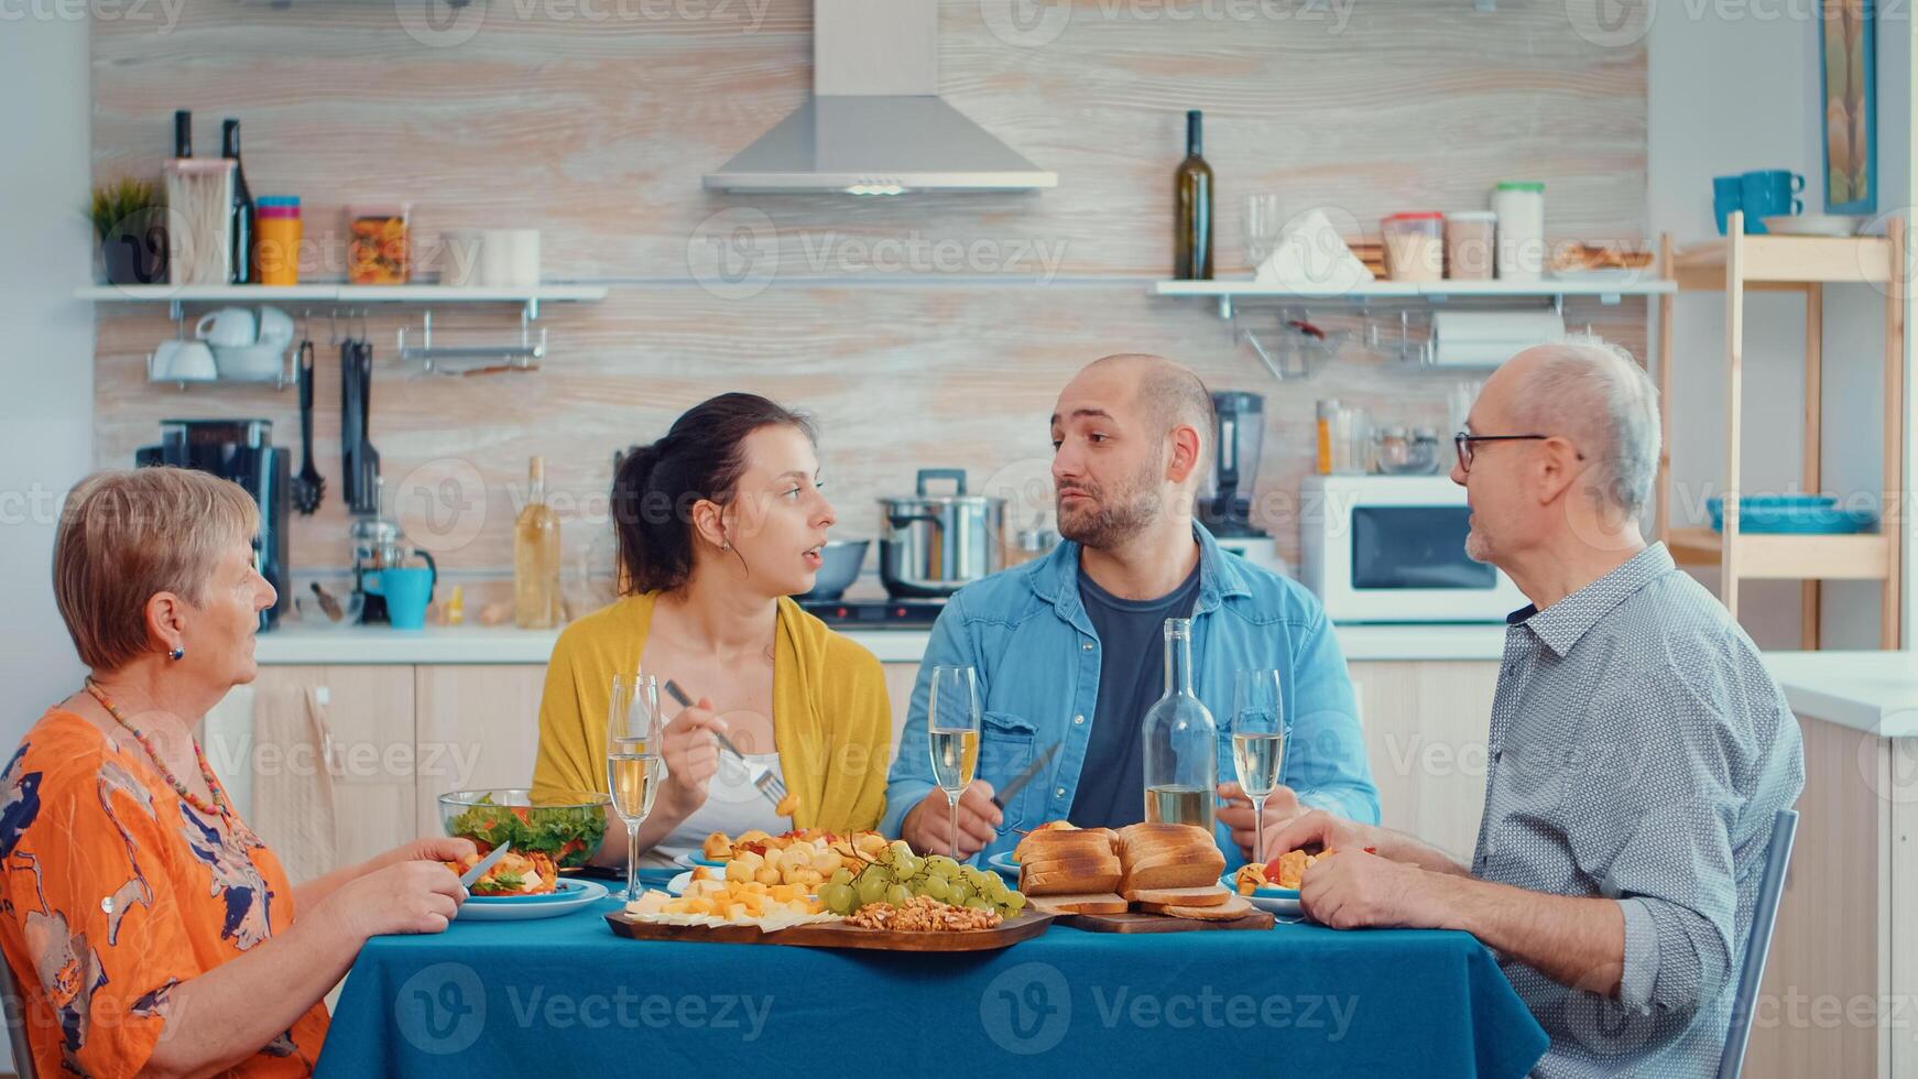
[[[1498,663],[1350,663],[1387,828],[1471,864],[1485,813],[1485,744]]]

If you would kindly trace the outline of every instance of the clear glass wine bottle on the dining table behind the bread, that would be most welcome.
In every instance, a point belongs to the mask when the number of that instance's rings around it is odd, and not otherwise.
[[[1166,696],[1145,711],[1145,818],[1212,834],[1218,724],[1193,694],[1193,623],[1166,619]]]

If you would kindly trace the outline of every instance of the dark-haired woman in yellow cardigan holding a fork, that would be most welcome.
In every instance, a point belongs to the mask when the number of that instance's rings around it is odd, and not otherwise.
[[[612,516],[623,598],[552,648],[533,786],[608,790],[612,678],[644,673],[666,711],[667,678],[694,705],[666,726],[641,864],[698,851],[712,832],[875,828],[892,738],[878,659],[790,600],[811,590],[834,523],[811,424],[750,393],[713,397],[620,464]],[[765,769],[796,799],[790,816],[754,788]],[[614,820],[595,862],[623,861]]]

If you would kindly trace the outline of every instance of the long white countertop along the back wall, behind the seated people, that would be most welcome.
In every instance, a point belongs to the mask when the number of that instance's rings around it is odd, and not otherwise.
[[[1477,659],[1504,654],[1502,625],[1348,625],[1335,629],[1346,659]],[[514,627],[309,629],[286,625],[259,636],[255,657],[269,665],[328,663],[545,663],[558,631]],[[926,631],[878,629],[846,636],[880,663],[919,663]]]

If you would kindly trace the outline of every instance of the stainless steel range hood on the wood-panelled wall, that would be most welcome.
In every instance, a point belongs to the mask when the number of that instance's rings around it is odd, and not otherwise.
[[[940,98],[938,0],[815,0],[813,96],[738,151],[717,192],[1024,192],[1057,188]]]

